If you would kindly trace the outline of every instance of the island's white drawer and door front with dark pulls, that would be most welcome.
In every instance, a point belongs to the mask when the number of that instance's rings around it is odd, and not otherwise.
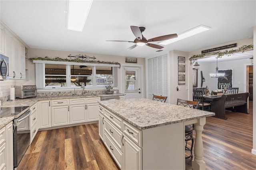
[[[142,170],[142,131],[99,105],[99,135],[121,170]]]

